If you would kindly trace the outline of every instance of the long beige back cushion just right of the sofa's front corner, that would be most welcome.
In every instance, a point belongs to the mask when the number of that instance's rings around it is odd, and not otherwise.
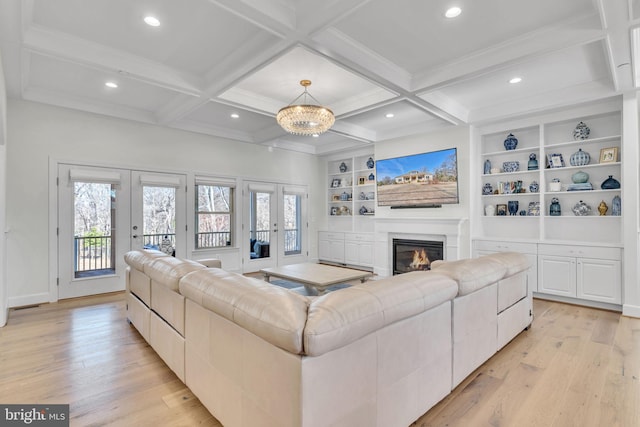
[[[309,307],[304,351],[318,356],[386,325],[453,299],[455,281],[434,272],[372,280],[316,298]]]

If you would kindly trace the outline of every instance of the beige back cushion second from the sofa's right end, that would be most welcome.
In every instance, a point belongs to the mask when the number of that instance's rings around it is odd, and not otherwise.
[[[491,257],[434,261],[431,270],[458,282],[458,295],[467,295],[505,277],[507,267]]]

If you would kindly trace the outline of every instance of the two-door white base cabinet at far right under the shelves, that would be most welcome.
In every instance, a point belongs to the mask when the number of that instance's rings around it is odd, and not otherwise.
[[[622,250],[611,247],[538,246],[538,292],[621,304]]]

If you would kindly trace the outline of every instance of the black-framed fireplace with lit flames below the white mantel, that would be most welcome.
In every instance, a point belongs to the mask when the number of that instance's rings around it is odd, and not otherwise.
[[[443,242],[393,239],[393,274],[430,270],[431,262],[444,259]]]

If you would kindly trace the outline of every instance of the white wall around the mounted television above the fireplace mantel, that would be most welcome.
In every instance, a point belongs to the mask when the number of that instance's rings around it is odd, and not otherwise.
[[[471,206],[470,185],[470,133],[468,126],[413,135],[404,138],[391,139],[376,143],[376,159],[386,159],[408,154],[438,151],[447,148],[457,148],[458,155],[458,191],[459,203],[442,205],[441,208],[391,209],[377,207],[376,218],[456,218],[465,219],[461,233],[463,246],[459,248],[459,257],[468,258],[471,253],[471,238],[469,234],[469,211]]]

